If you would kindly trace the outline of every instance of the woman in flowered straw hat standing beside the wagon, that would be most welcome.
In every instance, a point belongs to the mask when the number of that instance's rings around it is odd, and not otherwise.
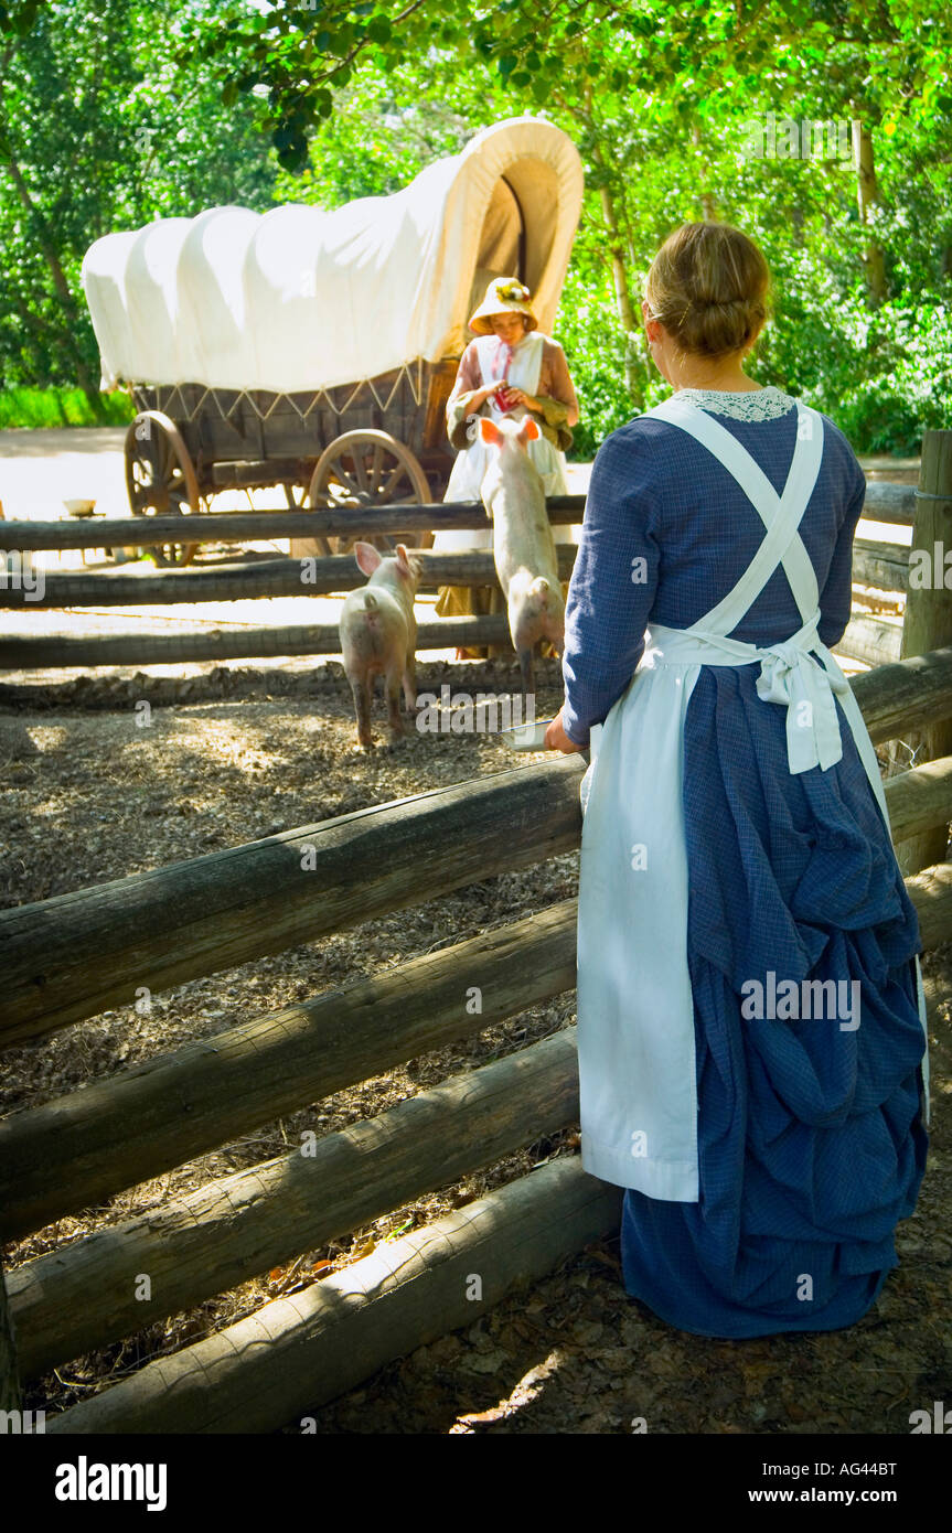
[[[529,457],[540,471],[546,495],[566,495],[566,449],[572,446],[572,426],[578,422],[578,400],[566,353],[558,340],[543,336],[532,313],[529,288],[517,277],[495,277],[486,297],[469,320],[477,339],[460,357],[452,394],[446,403],[446,429],[460,448],[446,495],[452,500],[478,500],[489,448],[472,429],[475,415],[518,420],[530,414],[541,437],[529,443]],[[570,527],[553,527],[556,543],[572,543]],[[472,532],[437,532],[434,553],[460,549],[491,549],[492,527]],[[498,587],[443,586],[435,612],[442,618],[504,612]],[[483,650],[457,650],[457,659],[477,659]],[[509,653],[492,647],[491,655]]]

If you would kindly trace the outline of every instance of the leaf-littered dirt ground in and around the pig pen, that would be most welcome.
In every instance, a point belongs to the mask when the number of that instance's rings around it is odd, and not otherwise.
[[[422,662],[422,690],[501,690],[506,665]],[[152,724],[136,725],[149,699]],[[558,668],[541,676],[538,713],[561,701]],[[382,722],[382,704],[377,702]],[[0,687],[0,906],[509,770],[494,736],[414,734],[397,748],[353,751],[350,693],[336,662],[192,667],[159,679],[130,673],[43,687]],[[533,757],[523,757],[532,760]],[[425,848],[420,849],[422,855]],[[37,1105],[196,1036],[373,973],[446,940],[460,941],[576,892],[578,854],[486,878],[451,897],[353,932],[193,981],[153,1000],[149,1016],[106,1012],[0,1059],[0,1111]],[[952,995],[950,954],[924,963]],[[409,1061],[320,1104],[333,1131],[376,1116],[448,1075],[570,1026],[573,993],[489,1027],[477,1039]],[[618,1242],[589,1248],[529,1294],[478,1323],[391,1363],[317,1413],[322,1433],[906,1433],[909,1413],[952,1401],[952,1091],[947,1009],[932,1038],[932,1153],[917,1213],[900,1225],[900,1266],[849,1331],[719,1341],[671,1331],[621,1286]],[[159,1206],[287,1151],[310,1111],[265,1124],[213,1154],[8,1248],[9,1266]],[[373,1226],[262,1275],[115,1346],[72,1360],[28,1389],[25,1404],[58,1412],[149,1358],[221,1329],[262,1302],[340,1266],[368,1240],[429,1223],[553,1154],[567,1130],[417,1199]],[[288,1424],[287,1432],[297,1432]]]

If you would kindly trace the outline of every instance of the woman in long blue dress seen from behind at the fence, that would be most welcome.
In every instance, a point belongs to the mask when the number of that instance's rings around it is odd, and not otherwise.
[[[829,653],[865,478],[745,377],[759,248],[685,224],[642,305],[664,405],[592,471],[546,745],[583,780],[583,1165],[625,1289],[713,1337],[848,1326],[926,1160],[918,923]]]

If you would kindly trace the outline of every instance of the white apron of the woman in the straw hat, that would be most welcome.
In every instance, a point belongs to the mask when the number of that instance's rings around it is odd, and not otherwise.
[[[529,331],[529,334],[514,348],[507,379],[512,388],[521,388],[526,394],[535,394],[543,366],[543,343],[544,337],[538,330],[533,330]],[[480,376],[483,383],[498,382],[503,377],[506,356],[500,346],[500,337],[478,336],[475,346],[480,359]],[[501,411],[498,409],[495,399],[489,399],[486,403],[492,420],[520,420],[523,415],[529,414],[529,411],[523,406],[517,406],[517,409],[510,411]],[[547,437],[540,435],[537,442],[529,443],[529,457],[540,471],[546,495],[569,494],[564,452],[560,452]],[[483,438],[477,435],[475,440],[471,442],[468,448],[463,448],[463,451],[457,455],[443,500],[478,500],[487,468],[489,448]],[[553,527],[552,535],[556,543],[573,541],[572,527]],[[474,532],[437,532],[432,544],[434,553],[455,553],[461,549],[491,547],[491,526]]]

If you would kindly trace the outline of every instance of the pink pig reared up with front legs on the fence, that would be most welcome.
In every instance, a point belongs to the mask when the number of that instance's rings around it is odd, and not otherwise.
[[[492,553],[506,593],[509,636],[520,658],[523,691],[532,691],[532,650],[549,639],[563,652],[566,602],[558,579],[558,556],[546,512],[546,492],[527,443],[540,429],[524,420],[480,417],[483,442],[497,448],[483,477],[483,504],[492,521]]]

